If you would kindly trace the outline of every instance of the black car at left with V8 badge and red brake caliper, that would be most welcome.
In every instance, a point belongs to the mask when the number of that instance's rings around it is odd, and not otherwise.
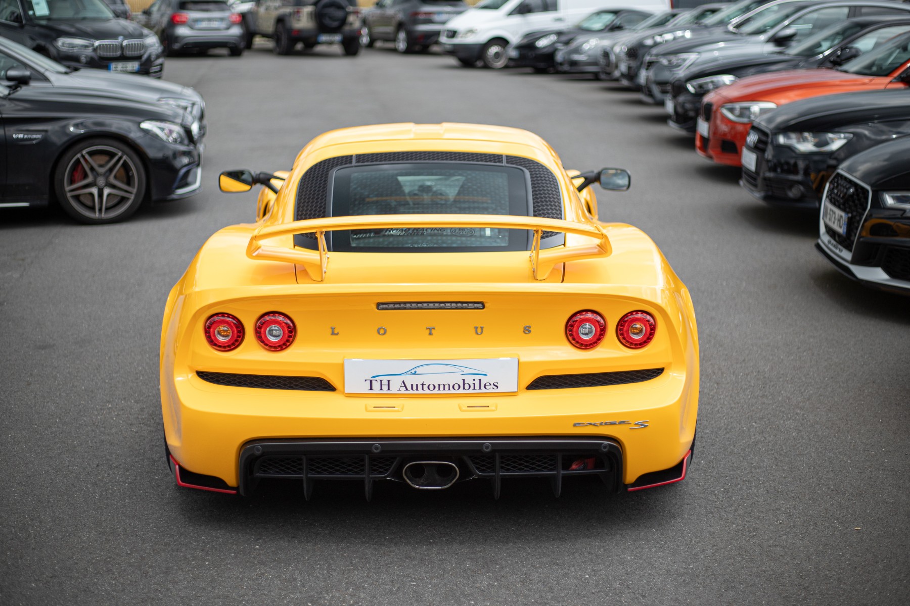
[[[0,85],[0,208],[56,199],[77,221],[106,224],[146,200],[199,191],[202,129],[184,108],[129,91],[33,86],[24,67],[5,69],[0,79],[8,84]]]

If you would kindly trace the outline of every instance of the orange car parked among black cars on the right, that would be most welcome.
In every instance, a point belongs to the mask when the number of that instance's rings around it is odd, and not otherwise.
[[[719,164],[754,170],[755,153],[743,149],[758,116],[775,107],[823,94],[910,85],[910,34],[834,69],[754,75],[706,94],[698,117],[695,151]]]

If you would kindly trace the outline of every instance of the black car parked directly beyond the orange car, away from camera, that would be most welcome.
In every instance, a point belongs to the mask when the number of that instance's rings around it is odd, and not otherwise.
[[[694,133],[702,97],[715,88],[747,75],[842,65],[908,29],[910,15],[856,17],[831,25],[780,53],[730,56],[719,52],[700,57],[670,86],[670,94],[664,100],[664,108],[670,114],[668,124]],[[655,77],[664,77],[662,69],[666,68],[654,66]]]

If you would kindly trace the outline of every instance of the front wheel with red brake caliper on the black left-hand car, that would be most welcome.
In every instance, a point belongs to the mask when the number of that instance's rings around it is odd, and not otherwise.
[[[142,204],[146,184],[139,154],[117,139],[84,139],[61,154],[54,169],[57,202],[84,224],[123,221]]]

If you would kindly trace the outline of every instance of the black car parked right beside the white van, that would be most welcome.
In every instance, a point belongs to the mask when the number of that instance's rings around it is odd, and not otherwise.
[[[581,35],[620,32],[638,25],[651,13],[638,10],[602,10],[586,16],[569,29],[532,32],[511,45],[510,63],[514,67],[532,67],[535,72],[548,72],[556,65],[555,55]]]

